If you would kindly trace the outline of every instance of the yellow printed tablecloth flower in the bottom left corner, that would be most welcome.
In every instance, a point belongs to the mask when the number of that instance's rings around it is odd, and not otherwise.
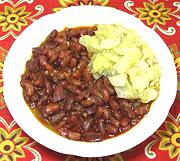
[[[20,135],[20,128],[10,133],[0,128],[0,160],[16,161],[17,158],[25,157],[22,146],[27,142],[27,138]]]

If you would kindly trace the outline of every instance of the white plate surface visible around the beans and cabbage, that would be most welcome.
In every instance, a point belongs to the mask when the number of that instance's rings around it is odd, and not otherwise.
[[[161,65],[160,95],[149,113],[131,130],[118,137],[98,143],[86,143],[65,139],[43,126],[26,105],[20,86],[25,63],[31,57],[33,47],[39,46],[53,30],[64,27],[94,24],[121,23],[134,28],[155,51]],[[175,99],[177,76],[175,65],[167,46],[153,30],[125,12],[110,7],[70,7],[35,21],[22,32],[6,57],[3,70],[4,98],[18,125],[40,144],[60,153],[83,157],[107,156],[128,150],[147,139],[163,123]]]

